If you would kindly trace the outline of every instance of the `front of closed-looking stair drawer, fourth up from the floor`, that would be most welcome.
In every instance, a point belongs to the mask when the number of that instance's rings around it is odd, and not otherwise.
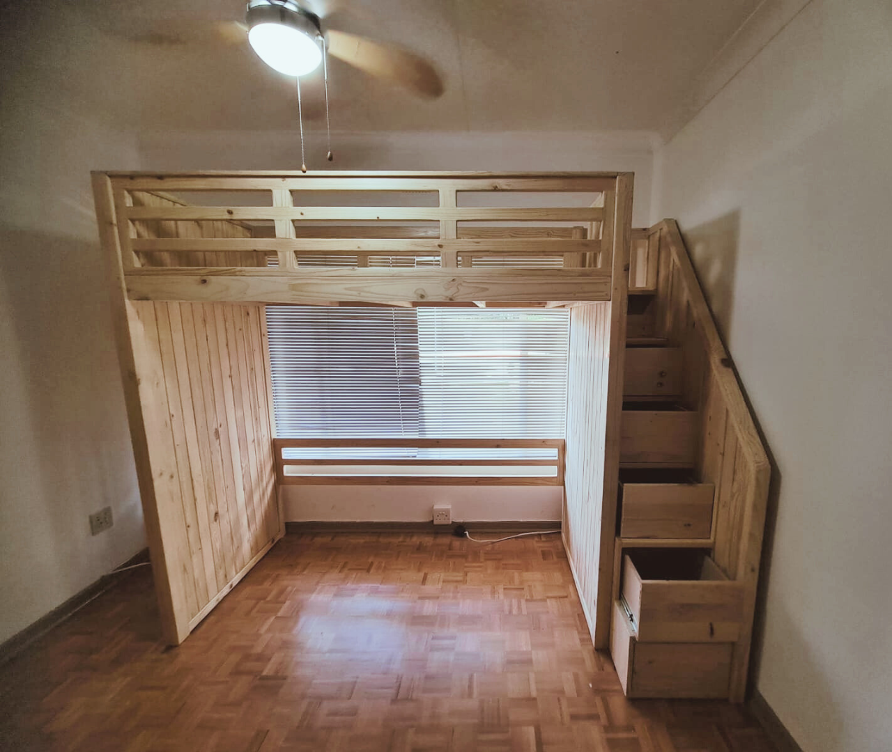
[[[698,414],[685,410],[624,410],[619,461],[628,467],[693,467]]]

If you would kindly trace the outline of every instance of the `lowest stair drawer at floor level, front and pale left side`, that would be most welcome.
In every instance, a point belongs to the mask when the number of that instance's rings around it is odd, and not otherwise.
[[[731,644],[640,642],[624,606],[614,601],[610,652],[630,698],[728,697]]]

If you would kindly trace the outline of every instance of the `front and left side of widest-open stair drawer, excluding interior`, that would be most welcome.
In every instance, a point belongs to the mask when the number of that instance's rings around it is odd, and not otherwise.
[[[710,569],[718,571],[712,560]],[[628,556],[623,597],[639,642],[736,642],[743,618],[742,584],[727,579],[645,580]]]

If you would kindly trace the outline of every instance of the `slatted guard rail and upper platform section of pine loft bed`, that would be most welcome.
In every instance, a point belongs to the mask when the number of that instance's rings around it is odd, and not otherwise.
[[[611,298],[620,173],[94,173],[131,300],[563,307]],[[628,242],[628,239],[625,239]]]

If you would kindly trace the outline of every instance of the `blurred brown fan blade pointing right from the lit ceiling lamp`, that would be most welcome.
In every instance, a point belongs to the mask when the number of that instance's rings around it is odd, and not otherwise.
[[[428,99],[436,99],[444,91],[440,74],[416,53],[345,31],[329,29],[326,38],[329,53],[372,76],[386,78]]]

